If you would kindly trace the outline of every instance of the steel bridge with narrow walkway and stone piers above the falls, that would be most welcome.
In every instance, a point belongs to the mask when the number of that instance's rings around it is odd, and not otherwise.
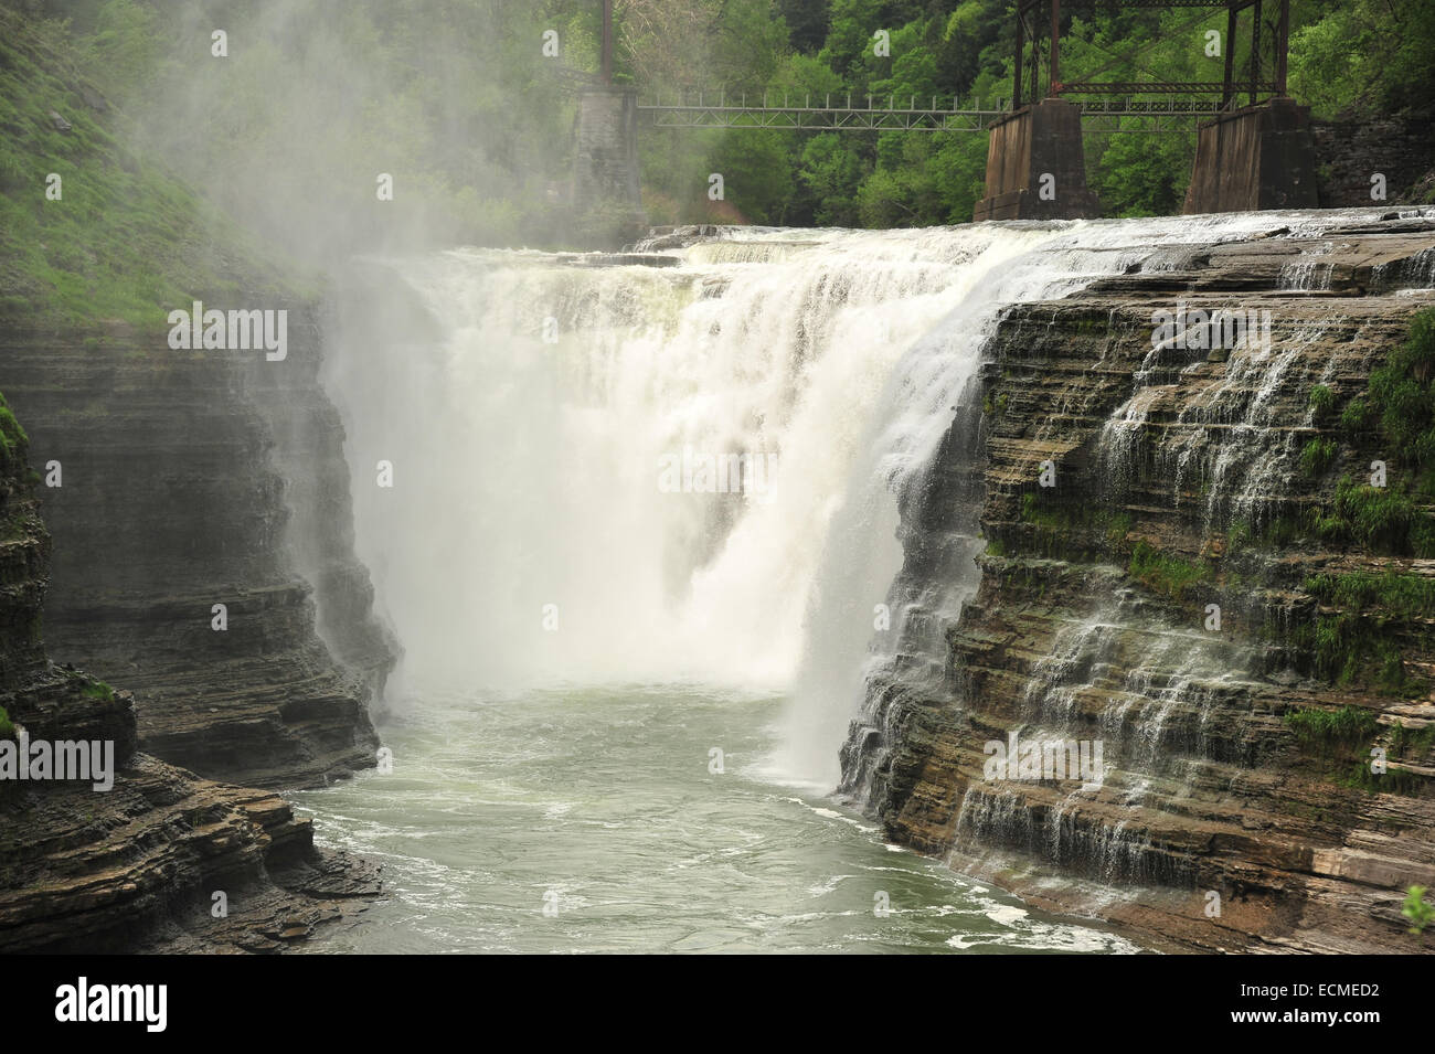
[[[1012,90],[1003,99],[818,98],[786,90],[779,100],[775,92],[749,98],[726,89],[639,96],[613,82],[613,0],[603,0],[601,73],[587,82],[580,98],[575,195],[626,199],[639,208],[640,126],[984,132],[990,135],[986,198],[976,206],[974,219],[1081,218],[1101,211],[1086,189],[1085,132],[1194,132],[1197,155],[1187,212],[1316,205],[1310,115],[1286,96],[1290,0],[1065,0],[1066,13],[1093,7],[1194,10],[1195,17],[1177,33],[1195,33],[1213,13],[1224,10],[1223,77],[1167,80],[1144,69],[1139,53],[1108,53],[1114,62],[1063,82],[1063,0],[1016,0]],[[1273,14],[1269,26],[1267,13]],[[1237,70],[1237,42],[1247,14],[1246,69]],[[1267,29],[1270,34],[1264,36]],[[1138,69],[1149,79],[1099,79],[1118,66]]]

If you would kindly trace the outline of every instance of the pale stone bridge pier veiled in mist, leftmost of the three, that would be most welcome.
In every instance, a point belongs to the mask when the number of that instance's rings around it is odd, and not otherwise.
[[[637,92],[590,87],[578,98],[573,208],[583,239],[617,248],[647,229],[637,169]]]

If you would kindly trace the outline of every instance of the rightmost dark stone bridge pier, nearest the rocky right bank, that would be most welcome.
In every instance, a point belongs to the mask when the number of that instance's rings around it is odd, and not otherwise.
[[[1276,98],[1203,123],[1185,192],[1192,212],[1320,208],[1310,108]]]

